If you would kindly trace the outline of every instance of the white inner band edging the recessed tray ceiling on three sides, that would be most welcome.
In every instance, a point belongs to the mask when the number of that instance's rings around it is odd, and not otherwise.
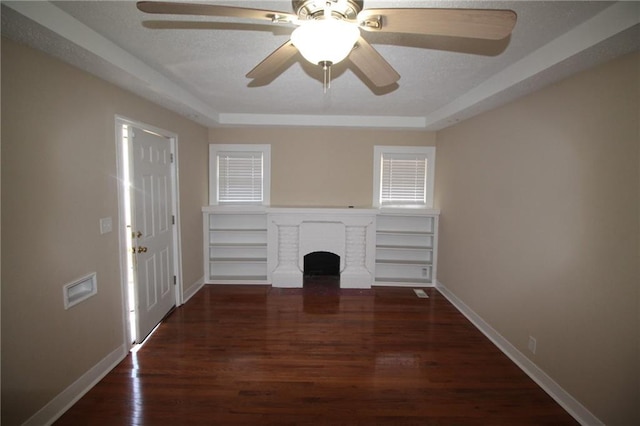
[[[186,116],[202,124],[236,126],[353,127],[439,130],[452,125],[481,103],[525,80],[640,24],[640,2],[613,3],[591,19],[569,30],[536,51],[498,72],[465,95],[426,116],[339,116],[296,114],[221,113],[201,101],[192,92],[154,70],[126,50],[82,24],[50,2],[3,1],[17,13],[58,36],[94,54],[121,72],[146,83],[153,93],[174,104],[182,104],[195,113]],[[145,97],[144,93],[138,95]],[[486,109],[486,108],[485,108]],[[177,109],[173,109],[178,114]],[[475,114],[472,114],[475,115]]]

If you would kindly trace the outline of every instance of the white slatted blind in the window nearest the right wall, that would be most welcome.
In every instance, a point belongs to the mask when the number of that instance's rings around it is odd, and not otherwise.
[[[384,153],[380,173],[380,205],[425,205],[427,155]]]

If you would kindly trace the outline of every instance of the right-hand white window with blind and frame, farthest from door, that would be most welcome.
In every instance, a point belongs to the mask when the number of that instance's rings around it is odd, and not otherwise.
[[[435,147],[374,147],[375,207],[433,207]]]

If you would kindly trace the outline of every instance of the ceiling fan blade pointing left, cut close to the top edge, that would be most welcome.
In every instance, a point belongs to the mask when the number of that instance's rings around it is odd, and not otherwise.
[[[294,22],[298,19],[296,15],[287,12],[213,4],[139,1],[136,5],[139,10],[146,13],[167,15],[228,16],[233,18],[263,19],[271,22]]]

